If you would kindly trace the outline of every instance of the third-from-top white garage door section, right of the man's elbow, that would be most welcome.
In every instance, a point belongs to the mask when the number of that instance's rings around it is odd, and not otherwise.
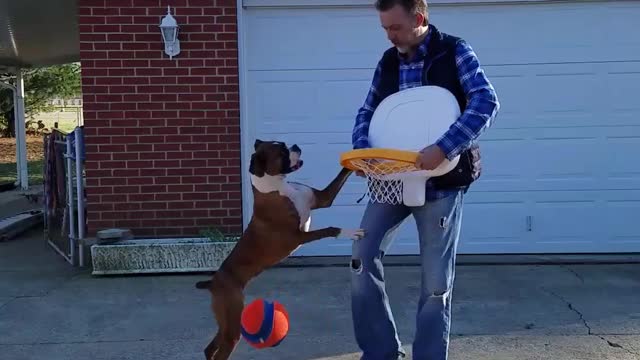
[[[640,189],[640,126],[489,130],[476,191]]]

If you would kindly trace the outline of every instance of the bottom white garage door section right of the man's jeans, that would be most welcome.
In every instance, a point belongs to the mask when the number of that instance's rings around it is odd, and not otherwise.
[[[470,192],[465,203],[464,253],[640,251],[640,230],[629,226],[640,213],[638,190]]]

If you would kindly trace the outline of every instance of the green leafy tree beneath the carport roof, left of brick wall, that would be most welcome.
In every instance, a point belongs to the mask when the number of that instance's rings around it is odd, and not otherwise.
[[[80,63],[23,69],[22,74],[27,119],[53,110],[53,106],[48,103],[49,100],[69,99],[82,93]],[[0,73],[0,82],[15,86],[15,75]],[[7,88],[0,88],[0,136],[15,137],[13,92]]]

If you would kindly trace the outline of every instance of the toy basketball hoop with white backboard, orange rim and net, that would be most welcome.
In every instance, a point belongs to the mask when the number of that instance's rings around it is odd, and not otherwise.
[[[420,86],[385,98],[371,119],[371,148],[341,154],[340,164],[361,171],[373,202],[422,206],[430,177],[451,171],[459,161],[445,159],[433,170],[415,166],[419,151],[435,143],[460,116],[458,103],[448,90]]]

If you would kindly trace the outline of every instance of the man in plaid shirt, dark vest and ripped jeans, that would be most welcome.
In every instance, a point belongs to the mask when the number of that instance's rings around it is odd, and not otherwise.
[[[460,161],[453,171],[427,182],[427,202],[421,207],[367,205],[361,223],[367,234],[354,242],[351,263],[355,337],[362,360],[405,355],[385,290],[382,257],[396,229],[412,214],[422,264],[413,358],[446,360],[462,197],[479,177],[476,139],[496,116],[499,103],[469,44],[429,24],[424,0],[377,0],[376,9],[394,46],[378,62],[355,121],[353,148],[369,147],[369,122],[382,99],[406,88],[437,85],[455,95],[462,115],[435,144],[425,144],[417,166],[431,170],[457,155]]]

